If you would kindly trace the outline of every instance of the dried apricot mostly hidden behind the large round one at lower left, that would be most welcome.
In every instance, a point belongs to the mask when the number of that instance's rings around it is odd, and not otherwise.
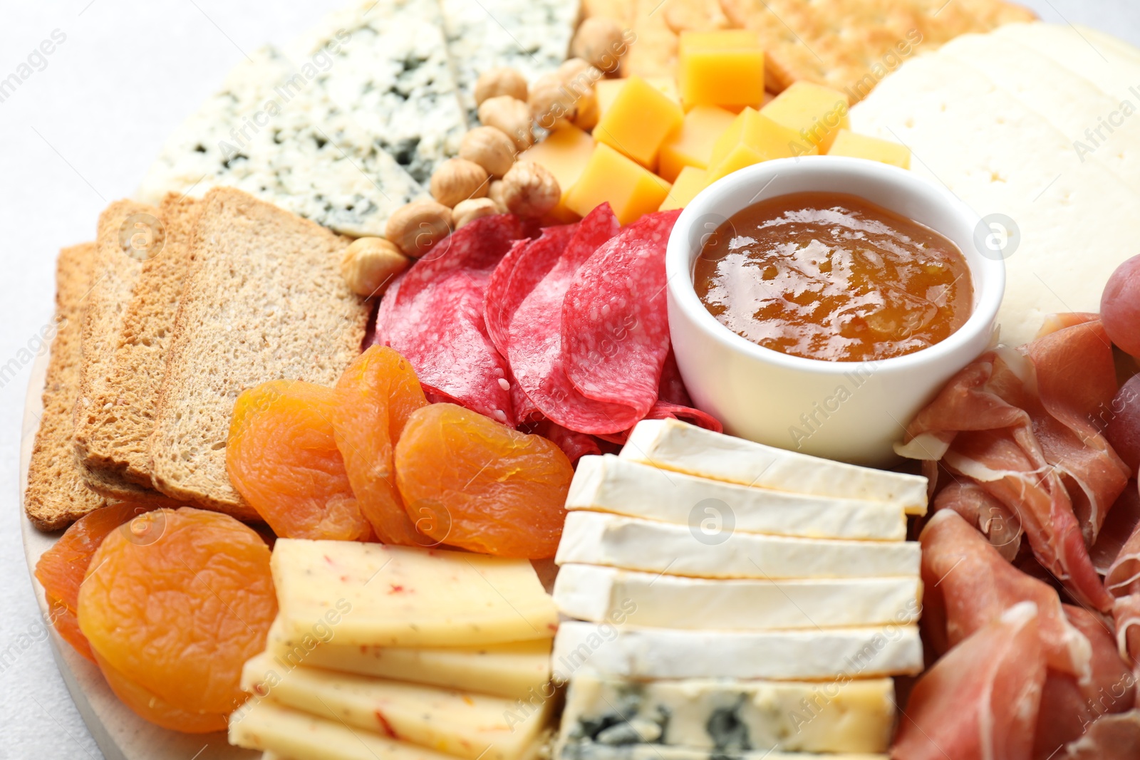
[[[75,616],[83,574],[108,533],[153,508],[145,504],[121,501],[90,512],[72,523],[35,563],[35,578],[43,586],[51,624],[65,641],[92,662],[91,647]]]

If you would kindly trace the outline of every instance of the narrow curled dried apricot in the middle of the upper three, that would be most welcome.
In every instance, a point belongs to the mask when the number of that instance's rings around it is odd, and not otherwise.
[[[424,546],[396,487],[392,449],[413,411],[427,406],[412,365],[374,345],[336,383],[333,432],[360,512],[384,544]]]

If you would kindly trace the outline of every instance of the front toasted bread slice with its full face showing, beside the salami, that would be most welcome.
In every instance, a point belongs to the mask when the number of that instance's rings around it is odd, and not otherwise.
[[[256,516],[226,471],[234,402],[270,379],[333,385],[360,352],[367,307],[340,275],[349,243],[241,190],[206,195],[150,438],[160,491]]]

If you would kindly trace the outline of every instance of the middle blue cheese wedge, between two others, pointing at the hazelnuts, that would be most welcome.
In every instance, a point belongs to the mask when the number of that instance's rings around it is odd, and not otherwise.
[[[358,1],[288,52],[298,65],[328,56],[316,84],[416,181],[459,152],[467,122],[438,0]]]

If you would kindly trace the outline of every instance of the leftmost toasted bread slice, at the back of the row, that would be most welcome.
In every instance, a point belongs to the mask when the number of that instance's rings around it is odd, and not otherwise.
[[[93,268],[93,243],[64,248],[56,263],[56,336],[24,491],[24,513],[42,531],[66,528],[104,505],[104,498],[84,484],[71,440],[82,360],[83,304]]]

